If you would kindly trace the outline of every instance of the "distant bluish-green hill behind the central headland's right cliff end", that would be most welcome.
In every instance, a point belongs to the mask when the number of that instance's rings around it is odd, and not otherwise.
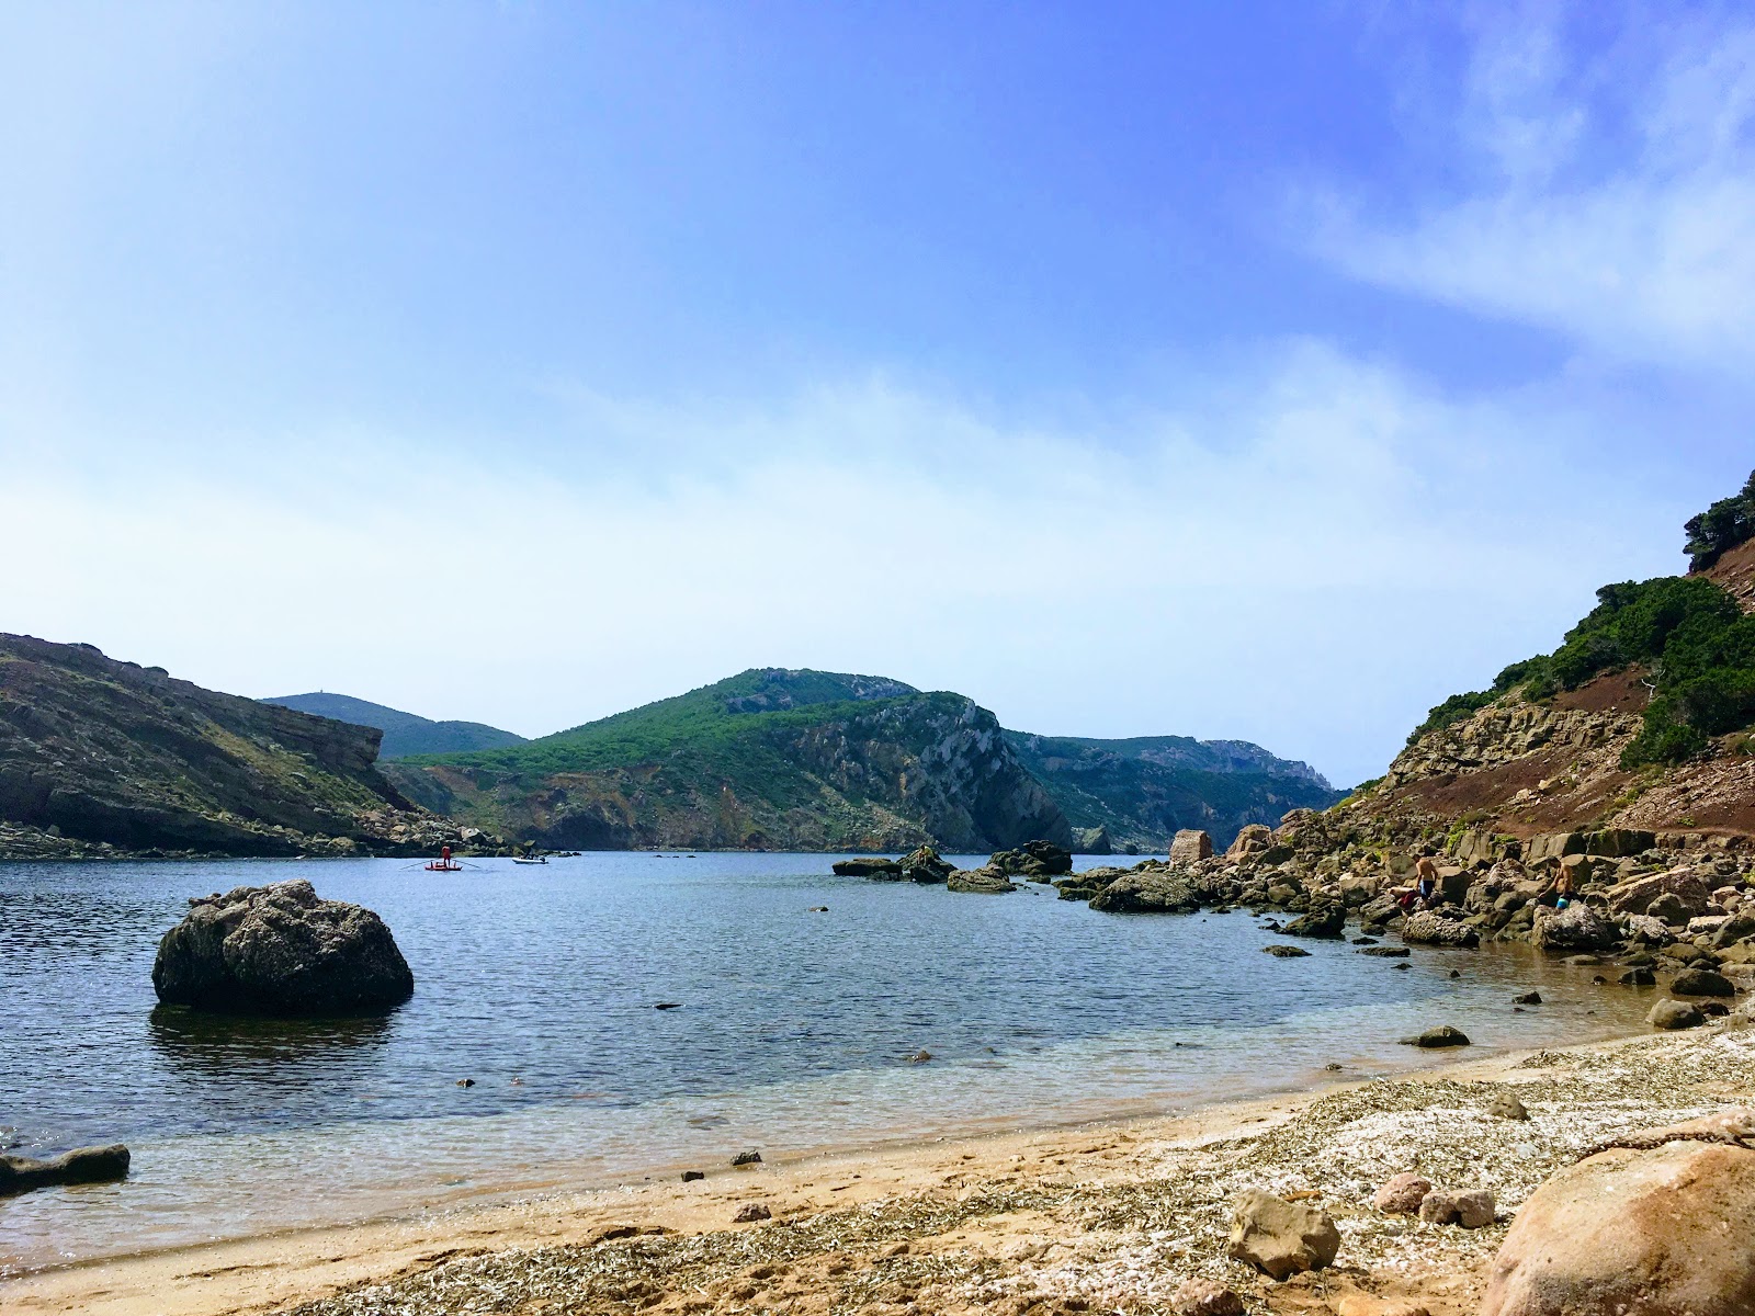
[[[1006,732],[1006,739],[1072,826],[1104,826],[1116,846],[1164,849],[1185,826],[1227,846],[1246,823],[1276,825],[1292,809],[1327,809],[1341,798],[1306,763],[1243,740],[1023,732]]]

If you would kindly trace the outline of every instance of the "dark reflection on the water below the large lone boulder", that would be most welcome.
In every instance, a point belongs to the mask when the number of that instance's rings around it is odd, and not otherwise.
[[[165,1067],[191,1077],[249,1084],[307,1084],[321,1067],[367,1069],[390,1041],[395,1014],[362,1019],[272,1019],[158,1005],[147,1041]]]

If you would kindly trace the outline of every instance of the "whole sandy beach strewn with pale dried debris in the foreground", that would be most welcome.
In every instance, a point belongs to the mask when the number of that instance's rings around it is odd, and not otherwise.
[[[1755,1030],[1437,1065],[1176,1119],[946,1141],[709,1172],[695,1183],[458,1209],[46,1270],[33,1316],[1167,1311],[1183,1279],[1250,1311],[1464,1316],[1509,1212],[1550,1172],[1648,1125],[1755,1100]],[[1515,1091],[1527,1121],[1488,1111]],[[1385,1216],[1418,1169],[1492,1188],[1481,1230]],[[1336,1267],[1274,1284],[1225,1256],[1244,1188],[1323,1205]],[[319,1191],[318,1186],[312,1188]],[[767,1219],[734,1223],[746,1205]]]

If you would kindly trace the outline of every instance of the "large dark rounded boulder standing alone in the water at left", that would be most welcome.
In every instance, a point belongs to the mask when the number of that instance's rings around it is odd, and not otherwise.
[[[414,995],[397,939],[370,909],[307,881],[190,902],[153,962],[167,1005],[226,1014],[381,1014]]]

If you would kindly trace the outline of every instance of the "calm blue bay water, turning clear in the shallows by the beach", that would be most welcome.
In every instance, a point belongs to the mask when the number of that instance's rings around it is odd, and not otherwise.
[[[0,865],[0,1146],[135,1153],[123,1184],[0,1198],[0,1269],[637,1181],[748,1146],[1172,1111],[1327,1081],[1329,1062],[1429,1062],[1395,1046],[1429,1023],[1527,1048],[1650,1007],[1513,949],[1416,949],[1409,970],[1322,942],[1276,960],[1244,912],[1106,916],[1044,886],[951,895],[828,865]],[[283,877],[379,911],[414,998],[346,1023],[154,1009],[153,953],[186,898]],[[1550,1004],[1513,1012],[1529,984]]]

